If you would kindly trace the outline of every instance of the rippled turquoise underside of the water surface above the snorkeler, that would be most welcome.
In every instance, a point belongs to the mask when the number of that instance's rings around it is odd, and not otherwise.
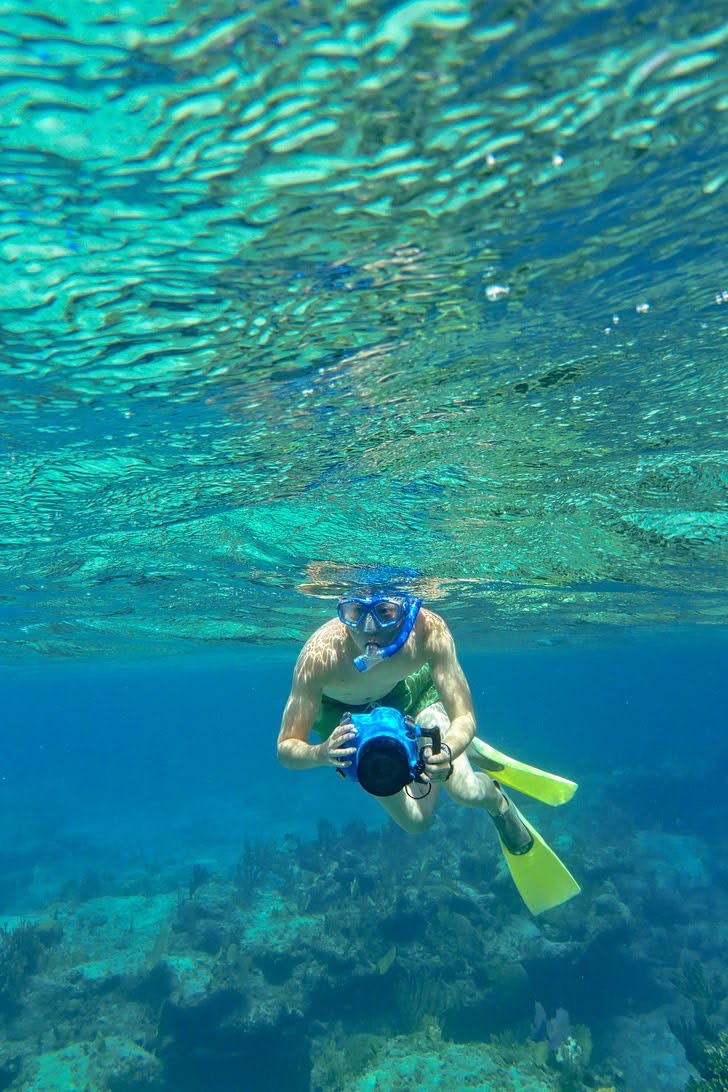
[[[0,14],[5,655],[724,620],[721,3]]]

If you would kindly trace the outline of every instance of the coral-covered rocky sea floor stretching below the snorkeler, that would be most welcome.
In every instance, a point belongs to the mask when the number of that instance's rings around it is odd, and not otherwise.
[[[649,793],[520,798],[583,887],[538,918],[487,817],[449,803],[420,839],[335,815],[301,836],[232,797],[196,840],[198,805],[156,839],[26,827],[2,852],[0,1089],[679,1092],[725,1020],[728,869],[694,812],[648,823]]]

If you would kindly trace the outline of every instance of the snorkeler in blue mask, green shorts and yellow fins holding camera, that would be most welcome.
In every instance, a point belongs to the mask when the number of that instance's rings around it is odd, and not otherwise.
[[[341,598],[337,617],[301,650],[277,752],[289,769],[329,765],[358,781],[408,833],[430,827],[443,788],[456,804],[482,808],[529,910],[559,905],[578,886],[501,782],[549,804],[564,803],[576,786],[508,758],[475,732],[444,620],[419,598],[365,587]],[[321,743],[309,741],[312,733]]]

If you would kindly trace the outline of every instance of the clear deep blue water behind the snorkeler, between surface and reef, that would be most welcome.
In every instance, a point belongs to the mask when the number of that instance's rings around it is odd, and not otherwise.
[[[701,831],[719,804],[725,633],[462,658],[479,734],[582,782],[580,811],[605,783],[635,829]],[[0,912],[43,905],[87,868],[179,877],[199,859],[228,866],[247,838],[314,838],[321,818],[381,823],[357,786],[278,767],[294,662],[294,649],[266,658],[241,645],[224,656],[4,667],[0,844],[12,878]],[[635,782],[646,796],[629,792]],[[559,812],[565,832],[577,822],[572,807]],[[570,864],[578,876],[578,859]]]

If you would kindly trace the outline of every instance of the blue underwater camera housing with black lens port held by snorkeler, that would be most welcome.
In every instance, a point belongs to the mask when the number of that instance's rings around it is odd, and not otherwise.
[[[394,796],[413,781],[422,781],[425,761],[418,740],[431,740],[432,753],[440,751],[440,729],[420,728],[396,709],[379,705],[371,713],[353,713],[357,735],[351,740],[356,753],[342,772],[372,796]]]

